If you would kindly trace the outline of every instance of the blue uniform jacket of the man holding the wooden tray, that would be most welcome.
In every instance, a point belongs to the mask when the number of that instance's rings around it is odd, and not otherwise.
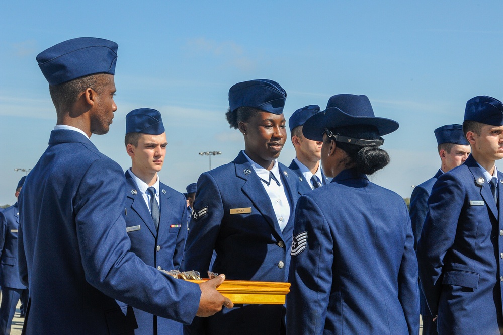
[[[20,277],[30,287],[24,333],[133,333],[124,303],[192,321],[198,285],[129,252],[125,207],[119,164],[76,131],[52,131],[19,196]]]

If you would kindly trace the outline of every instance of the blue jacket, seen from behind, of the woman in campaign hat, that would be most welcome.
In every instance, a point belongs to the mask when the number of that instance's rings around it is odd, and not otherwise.
[[[414,334],[417,259],[403,199],[344,170],[295,213],[289,334]]]

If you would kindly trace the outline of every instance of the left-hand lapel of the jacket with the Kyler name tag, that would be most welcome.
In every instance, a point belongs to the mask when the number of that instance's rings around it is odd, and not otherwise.
[[[257,176],[242,151],[237,158],[234,159],[234,164],[236,167],[236,176],[245,180],[242,187],[243,193],[251,200],[276,234],[283,239],[283,234],[276,221],[276,214],[274,213],[269,195],[264,189],[259,176]]]

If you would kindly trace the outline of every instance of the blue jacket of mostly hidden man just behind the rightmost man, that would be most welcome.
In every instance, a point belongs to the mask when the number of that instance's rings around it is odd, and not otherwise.
[[[421,237],[423,224],[425,223],[426,214],[428,213],[428,198],[432,193],[433,184],[435,184],[442,174],[442,170],[439,169],[435,176],[417,185],[410,196],[410,221],[412,222],[412,232],[414,233],[414,250],[417,249],[417,241]],[[423,290],[419,291],[419,296],[421,301],[420,314],[428,317],[432,316],[426,304]]]

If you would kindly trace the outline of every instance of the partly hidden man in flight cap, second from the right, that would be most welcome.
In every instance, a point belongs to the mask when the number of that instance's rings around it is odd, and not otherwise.
[[[461,165],[468,158],[471,151],[463,133],[463,127],[460,124],[448,124],[435,129],[435,137],[437,138],[437,149],[442,161],[441,167],[435,176],[417,185],[410,196],[410,220],[412,221],[412,232],[414,233],[414,249],[417,248],[417,240],[421,236],[426,213],[428,213],[428,198],[432,193],[433,184],[443,173]],[[419,291],[423,335],[436,334],[437,325],[433,322],[433,316],[428,310],[423,291]]]

